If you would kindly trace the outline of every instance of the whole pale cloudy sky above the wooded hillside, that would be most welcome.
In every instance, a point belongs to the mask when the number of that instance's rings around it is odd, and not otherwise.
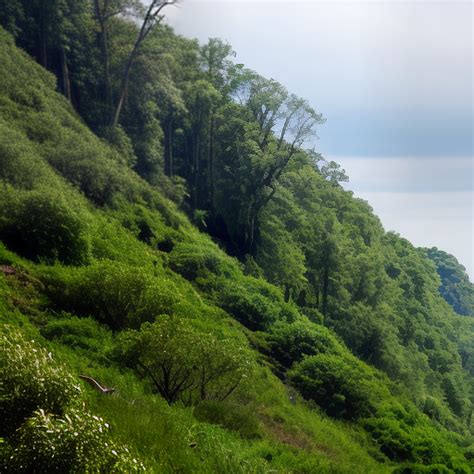
[[[327,119],[316,149],[345,187],[474,280],[471,1],[181,0],[166,15],[307,99]]]

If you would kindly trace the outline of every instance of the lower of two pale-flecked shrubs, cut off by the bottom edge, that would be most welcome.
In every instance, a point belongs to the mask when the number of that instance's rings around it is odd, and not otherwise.
[[[10,472],[143,472],[145,466],[110,437],[109,425],[84,410],[36,411],[15,434]]]

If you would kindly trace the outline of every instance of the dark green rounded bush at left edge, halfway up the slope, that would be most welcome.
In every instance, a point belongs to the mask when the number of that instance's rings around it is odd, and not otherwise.
[[[0,193],[0,238],[31,260],[79,265],[89,255],[83,216],[55,190],[5,186]]]

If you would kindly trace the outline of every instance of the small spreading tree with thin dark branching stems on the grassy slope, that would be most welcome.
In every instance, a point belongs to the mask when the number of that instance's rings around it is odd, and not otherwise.
[[[251,368],[245,346],[191,321],[160,316],[120,336],[119,357],[168,403],[228,398]]]

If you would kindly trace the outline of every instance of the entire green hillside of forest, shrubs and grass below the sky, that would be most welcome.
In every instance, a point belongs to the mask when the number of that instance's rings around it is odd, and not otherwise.
[[[0,472],[472,473],[465,269],[173,3],[0,0]]]

